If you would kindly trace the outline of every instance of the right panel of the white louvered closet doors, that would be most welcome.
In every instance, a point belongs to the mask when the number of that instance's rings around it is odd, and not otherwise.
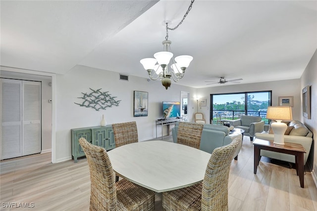
[[[22,82],[22,156],[41,152],[41,83]]]

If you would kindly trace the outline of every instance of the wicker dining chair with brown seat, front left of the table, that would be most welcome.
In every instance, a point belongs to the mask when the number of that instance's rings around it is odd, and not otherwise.
[[[154,211],[154,191],[126,179],[115,182],[106,149],[92,145],[85,138],[80,138],[79,143],[90,170],[90,211]]]

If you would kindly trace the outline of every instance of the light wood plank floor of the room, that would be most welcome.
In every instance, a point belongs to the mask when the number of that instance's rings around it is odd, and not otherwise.
[[[165,137],[170,141],[171,136]],[[253,174],[253,145],[245,136],[229,176],[229,211],[317,211],[317,188],[311,173],[300,187],[295,169],[260,162]],[[88,211],[90,176],[85,158],[52,164],[51,153],[0,162],[0,210]],[[156,210],[161,210],[161,195]],[[34,203],[33,209],[8,209],[2,203]]]

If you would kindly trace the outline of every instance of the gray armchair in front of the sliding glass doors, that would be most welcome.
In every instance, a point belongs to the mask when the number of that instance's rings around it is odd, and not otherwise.
[[[262,117],[258,116],[241,115],[240,119],[228,122],[230,126],[243,129],[245,131],[244,135],[249,136],[251,141],[253,141],[257,132],[263,132],[264,130],[264,121],[262,121]]]

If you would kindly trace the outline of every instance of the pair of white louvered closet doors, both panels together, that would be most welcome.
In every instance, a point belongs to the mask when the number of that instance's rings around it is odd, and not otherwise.
[[[41,83],[1,79],[1,155],[41,152]]]

